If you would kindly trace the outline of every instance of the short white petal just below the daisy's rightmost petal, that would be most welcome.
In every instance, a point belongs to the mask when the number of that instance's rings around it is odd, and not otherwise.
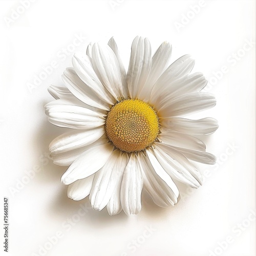
[[[178,132],[165,132],[158,135],[158,140],[169,146],[184,147],[190,150],[204,151],[206,145],[203,141],[193,136],[178,133]]]

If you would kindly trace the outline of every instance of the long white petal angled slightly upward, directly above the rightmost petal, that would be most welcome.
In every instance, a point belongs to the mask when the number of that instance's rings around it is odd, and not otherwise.
[[[167,102],[158,110],[160,118],[188,115],[212,108],[216,105],[214,95],[209,93],[191,93]]]

